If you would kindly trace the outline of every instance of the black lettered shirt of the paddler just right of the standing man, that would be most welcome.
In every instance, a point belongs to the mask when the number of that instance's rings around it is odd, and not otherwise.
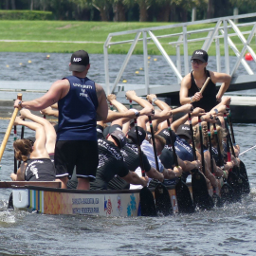
[[[111,141],[98,139],[99,165],[96,179],[90,183],[90,190],[106,190],[108,182],[115,176],[124,177],[129,169],[123,161],[119,148]]]

